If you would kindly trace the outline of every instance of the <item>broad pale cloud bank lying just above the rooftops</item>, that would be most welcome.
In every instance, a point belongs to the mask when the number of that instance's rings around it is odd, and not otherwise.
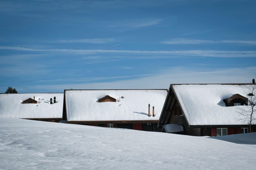
[[[158,74],[144,75],[125,80],[110,80],[97,83],[68,83],[59,85],[35,85],[27,89],[40,92],[63,92],[64,89],[153,89],[166,88],[175,83],[246,83],[250,81],[256,67],[228,68],[228,69],[202,69],[188,67],[173,67],[161,70]],[[244,74],[247,72],[248,74]],[[25,88],[26,89],[26,88]]]

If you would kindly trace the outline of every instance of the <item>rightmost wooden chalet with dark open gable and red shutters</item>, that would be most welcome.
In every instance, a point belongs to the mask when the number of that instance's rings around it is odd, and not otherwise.
[[[164,132],[164,125],[182,125],[179,134],[191,136],[248,133],[248,121],[238,113],[250,107],[243,90],[248,85],[253,84],[171,84],[157,127]]]

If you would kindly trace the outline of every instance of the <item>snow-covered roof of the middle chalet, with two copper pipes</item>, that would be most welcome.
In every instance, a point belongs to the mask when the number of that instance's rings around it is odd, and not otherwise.
[[[117,102],[99,102],[109,95]],[[66,90],[68,121],[158,121],[167,90]],[[122,96],[124,98],[122,98]],[[156,116],[148,116],[155,107]]]

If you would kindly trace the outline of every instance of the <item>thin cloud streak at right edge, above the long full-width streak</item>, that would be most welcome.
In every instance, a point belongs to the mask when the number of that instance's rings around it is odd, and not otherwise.
[[[173,38],[168,41],[162,41],[163,44],[209,44],[209,43],[235,43],[243,45],[256,45],[256,41],[242,41],[242,40],[196,40],[196,39],[186,39],[186,38]]]

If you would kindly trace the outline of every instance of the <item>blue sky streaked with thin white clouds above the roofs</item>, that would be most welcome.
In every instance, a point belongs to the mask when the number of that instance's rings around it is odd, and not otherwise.
[[[256,1],[0,1],[0,92],[256,78]]]

